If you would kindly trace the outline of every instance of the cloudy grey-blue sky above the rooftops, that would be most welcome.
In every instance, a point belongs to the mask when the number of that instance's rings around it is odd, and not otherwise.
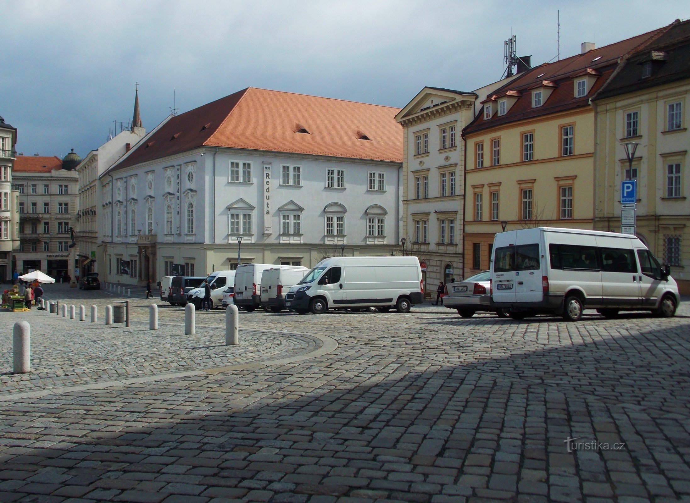
[[[147,130],[247,86],[402,107],[423,86],[500,79],[503,41],[533,65],[690,17],[654,1],[0,0],[0,115],[24,155],[83,157],[132,118]],[[118,126],[119,131],[119,126]]]

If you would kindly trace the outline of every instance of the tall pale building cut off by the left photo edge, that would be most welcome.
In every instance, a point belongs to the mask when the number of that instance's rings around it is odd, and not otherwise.
[[[0,283],[12,279],[12,251],[19,248],[19,194],[12,190],[17,128],[0,117]]]

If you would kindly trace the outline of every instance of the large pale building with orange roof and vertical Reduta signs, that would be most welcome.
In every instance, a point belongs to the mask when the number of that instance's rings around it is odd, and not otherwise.
[[[247,88],[168,117],[100,177],[103,278],[399,253],[398,111]]]

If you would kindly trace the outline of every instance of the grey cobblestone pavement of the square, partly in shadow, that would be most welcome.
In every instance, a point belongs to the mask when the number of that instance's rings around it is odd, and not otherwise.
[[[75,304],[112,299],[57,293]],[[104,326],[0,313],[4,332],[22,316],[32,322],[36,386],[46,389],[55,359],[102,372],[169,353],[205,369],[0,402],[0,501],[690,501],[688,303],[673,319],[574,324],[462,319],[428,306],[241,313],[248,364],[217,373],[207,371],[239,362],[214,346],[221,310],[198,313],[197,331],[209,327],[198,340],[208,342],[188,349],[175,335],[180,308],[161,306],[156,335],[134,326],[146,305],[132,302],[135,323],[108,328],[111,339],[90,335]],[[270,363],[325,337],[337,347]]]

